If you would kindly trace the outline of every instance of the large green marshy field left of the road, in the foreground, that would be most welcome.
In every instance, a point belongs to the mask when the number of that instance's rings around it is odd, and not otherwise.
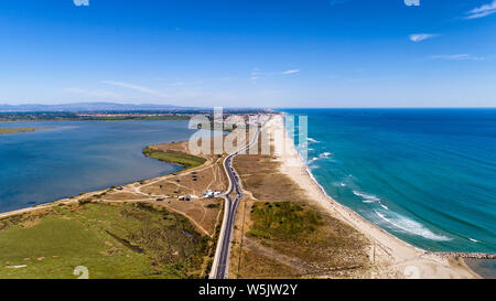
[[[208,239],[147,204],[58,205],[0,219],[0,278],[200,278]]]

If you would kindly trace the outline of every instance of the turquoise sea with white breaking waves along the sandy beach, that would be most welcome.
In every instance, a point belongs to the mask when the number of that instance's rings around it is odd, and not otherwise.
[[[337,202],[422,249],[496,252],[496,109],[283,111],[308,116],[309,169]]]

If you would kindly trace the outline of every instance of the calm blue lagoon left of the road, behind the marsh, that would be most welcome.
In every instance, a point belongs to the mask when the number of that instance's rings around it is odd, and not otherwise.
[[[0,135],[0,212],[42,204],[181,169],[145,158],[153,143],[184,141],[187,121],[8,122],[53,127]]]

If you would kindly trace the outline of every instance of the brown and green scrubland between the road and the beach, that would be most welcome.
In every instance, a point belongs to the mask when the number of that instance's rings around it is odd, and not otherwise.
[[[254,202],[248,214],[237,277],[353,278],[369,268],[365,237],[309,204]]]

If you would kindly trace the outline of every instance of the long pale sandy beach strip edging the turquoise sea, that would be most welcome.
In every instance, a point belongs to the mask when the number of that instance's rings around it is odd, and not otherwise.
[[[335,202],[309,173],[293,141],[287,137],[282,116],[273,117],[266,128],[269,132],[279,133],[272,137],[276,137],[274,154],[281,162],[281,172],[299,183],[320,207],[370,239],[370,260],[374,262],[370,278],[481,278],[462,259],[443,258],[414,248]]]

